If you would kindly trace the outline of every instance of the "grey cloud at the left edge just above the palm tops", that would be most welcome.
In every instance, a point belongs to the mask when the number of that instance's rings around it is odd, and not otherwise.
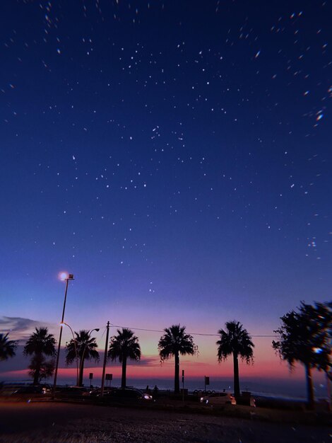
[[[0,333],[9,333],[10,340],[28,340],[35,328],[52,328],[53,325],[22,317],[0,317]]]

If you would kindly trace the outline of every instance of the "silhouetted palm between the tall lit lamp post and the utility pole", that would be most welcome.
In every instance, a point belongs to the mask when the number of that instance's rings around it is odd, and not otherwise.
[[[71,364],[76,360],[77,350],[77,355],[80,360],[78,386],[82,386],[84,361],[93,359],[95,362],[99,362],[99,352],[96,350],[97,343],[95,337],[90,337],[89,330],[80,330],[78,333],[75,332],[75,335],[75,341],[71,339],[66,345],[66,364]]]

